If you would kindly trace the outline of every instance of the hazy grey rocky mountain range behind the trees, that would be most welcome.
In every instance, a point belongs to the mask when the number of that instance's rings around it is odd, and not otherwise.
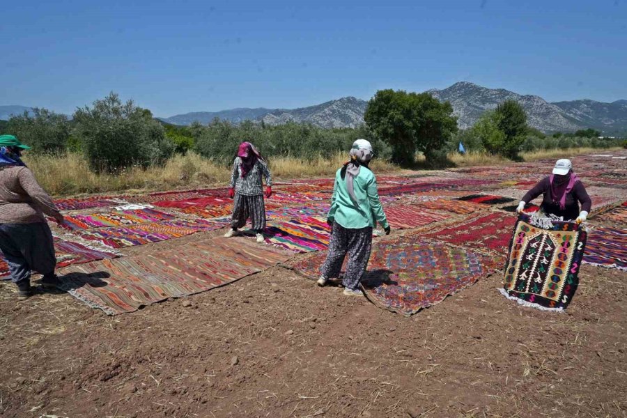
[[[428,90],[427,93],[440,101],[451,102],[462,129],[471,127],[484,111],[494,109],[497,104],[516,100],[527,111],[527,123],[542,132],[573,132],[592,127],[605,134],[627,133],[627,100],[611,103],[587,99],[547,102],[537,95],[520,95],[504,88],[487,88],[470,82],[458,82],[442,90]],[[298,109],[258,107],[197,111],[160,120],[175,125],[191,125],[194,121],[206,124],[219,118],[233,123],[263,121],[268,125],[278,125],[293,121],[312,123],[319,127],[357,127],[364,123],[367,105],[365,100],[346,97]],[[0,106],[0,119],[6,120],[10,114],[22,114],[30,109],[24,106]]]

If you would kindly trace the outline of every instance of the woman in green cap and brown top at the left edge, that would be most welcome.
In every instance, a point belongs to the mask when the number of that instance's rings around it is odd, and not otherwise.
[[[33,294],[31,270],[43,274],[42,286],[59,285],[52,231],[44,214],[59,224],[63,215],[22,162],[22,150],[28,149],[13,135],[0,136],[0,252],[17,286],[18,300]]]

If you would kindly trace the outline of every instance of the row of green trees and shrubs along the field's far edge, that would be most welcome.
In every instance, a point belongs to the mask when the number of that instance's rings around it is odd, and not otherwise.
[[[180,127],[161,123],[132,100],[116,93],[78,108],[71,120],[46,109],[13,116],[0,133],[15,134],[40,153],[84,153],[94,171],[115,172],[131,165],[161,164],[173,153],[194,150],[219,162],[232,161],[241,141],[251,141],[268,156],[304,159],[346,151],[357,138],[371,139],[378,157],[412,164],[417,152],[432,165],[441,164],[458,142],[469,150],[517,160],[520,151],[616,144],[598,139],[599,132],[546,136],[527,126],[524,109],[513,100],[486,111],[469,130],[458,130],[449,102],[428,93],[382,90],[370,100],[362,127],[323,129],[309,124],[268,126],[246,121],[233,125],[218,119]]]

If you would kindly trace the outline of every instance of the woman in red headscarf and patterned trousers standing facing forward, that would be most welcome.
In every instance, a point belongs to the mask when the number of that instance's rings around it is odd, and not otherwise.
[[[257,242],[263,242],[265,229],[265,203],[263,201],[262,176],[265,176],[265,196],[272,196],[272,175],[259,151],[250,142],[242,142],[238,148],[238,155],[233,161],[231,186],[229,197],[233,200],[233,215],[231,229],[224,234],[231,238],[238,234],[238,228],[251,219],[252,229],[257,236]]]

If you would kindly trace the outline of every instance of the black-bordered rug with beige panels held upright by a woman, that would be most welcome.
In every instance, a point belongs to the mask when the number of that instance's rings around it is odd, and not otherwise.
[[[587,233],[574,222],[543,229],[530,219],[520,215],[516,221],[501,291],[525,306],[561,311],[577,290]]]

